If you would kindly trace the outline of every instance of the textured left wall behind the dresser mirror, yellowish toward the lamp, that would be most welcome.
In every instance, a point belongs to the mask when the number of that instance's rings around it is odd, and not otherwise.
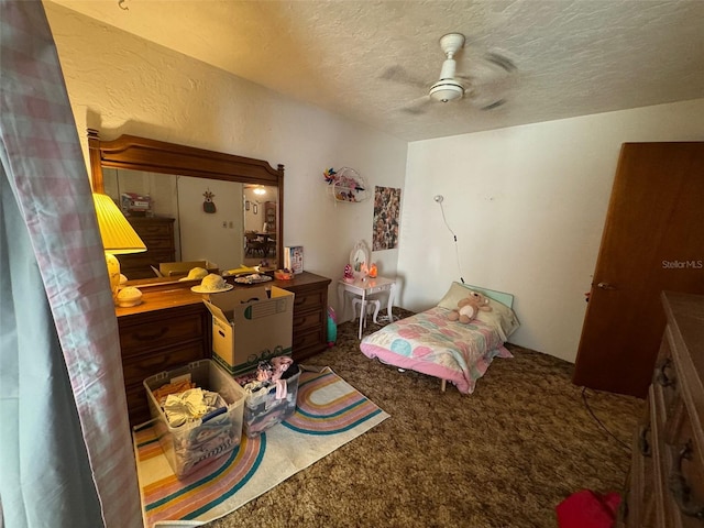
[[[372,243],[373,201],[336,206],[322,173],[350,166],[371,185],[402,187],[407,143],[45,2],[86,164],[86,129],[284,164],[284,244],[334,284],[360,239]],[[374,254],[396,272],[398,250]]]

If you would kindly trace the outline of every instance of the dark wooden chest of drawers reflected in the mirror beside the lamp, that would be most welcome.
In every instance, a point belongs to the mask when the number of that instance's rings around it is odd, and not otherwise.
[[[174,242],[174,218],[129,217],[128,221],[146,245],[143,253],[116,255],[120,261],[120,272],[129,279],[153,278],[152,266],[158,270],[162,262],[176,260]]]

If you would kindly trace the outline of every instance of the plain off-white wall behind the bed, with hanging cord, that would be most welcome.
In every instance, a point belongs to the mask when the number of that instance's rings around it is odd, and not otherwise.
[[[703,116],[701,99],[411,143],[400,305],[463,276],[516,296],[512,342],[573,362],[620,144],[704,141]]]

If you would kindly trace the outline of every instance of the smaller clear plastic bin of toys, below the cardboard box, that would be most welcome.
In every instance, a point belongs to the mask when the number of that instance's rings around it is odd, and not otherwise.
[[[286,380],[286,397],[276,397],[276,385],[263,387],[260,391],[248,394],[244,402],[244,433],[248,438],[255,438],[265,430],[280,424],[296,411],[296,398],[298,396],[297,374]]]

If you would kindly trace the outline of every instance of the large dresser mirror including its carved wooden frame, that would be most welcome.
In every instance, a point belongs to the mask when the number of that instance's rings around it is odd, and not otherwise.
[[[88,146],[94,190],[121,207],[147,246],[118,257],[128,284],[184,278],[164,273],[178,262],[283,267],[283,165],[133,135],[102,141],[91,129]]]

